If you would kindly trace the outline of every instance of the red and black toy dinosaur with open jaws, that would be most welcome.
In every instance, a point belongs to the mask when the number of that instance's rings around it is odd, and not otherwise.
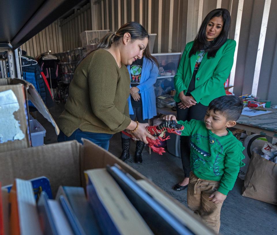
[[[181,131],[184,129],[184,126],[181,124],[176,123],[175,121],[163,121],[158,126],[147,126],[146,130],[152,135],[156,137],[156,140],[152,140],[148,137],[146,137],[148,141],[148,146],[152,149],[153,152],[158,153],[162,155],[162,153],[165,153],[163,147],[155,147],[154,145],[160,145],[161,141],[168,140],[170,137],[165,137],[165,132],[168,133],[174,133],[176,135],[181,135]],[[123,134],[126,136],[129,136],[132,138],[132,136],[122,131]]]

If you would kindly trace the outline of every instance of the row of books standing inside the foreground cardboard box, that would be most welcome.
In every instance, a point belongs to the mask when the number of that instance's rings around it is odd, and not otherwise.
[[[2,187],[0,235],[194,234],[187,213],[119,166],[88,170],[85,177],[87,195],[82,187],[60,186],[55,199],[45,177]]]

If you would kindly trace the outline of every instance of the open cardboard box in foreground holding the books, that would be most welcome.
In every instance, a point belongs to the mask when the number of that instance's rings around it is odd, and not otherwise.
[[[0,153],[2,185],[12,184],[15,178],[27,180],[46,176],[50,180],[53,196],[55,197],[60,185],[85,186],[83,173],[85,170],[104,168],[107,164],[114,165],[117,163],[136,180],[146,180],[176,203],[179,208],[183,209],[186,218],[182,218],[182,221],[186,221],[188,228],[194,234],[214,234],[201,222],[199,217],[141,173],[89,140],[83,139],[83,142],[84,145],[81,145],[74,140]]]

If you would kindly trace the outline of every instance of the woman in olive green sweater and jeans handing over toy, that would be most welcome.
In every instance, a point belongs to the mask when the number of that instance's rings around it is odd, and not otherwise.
[[[65,110],[58,118],[58,141],[81,138],[108,150],[113,134],[127,130],[134,139],[148,143],[154,139],[147,123],[132,121],[127,98],[130,75],[125,65],[142,58],[149,35],[142,25],[130,22],[104,36],[96,50],[89,51],[78,64],[69,87]]]

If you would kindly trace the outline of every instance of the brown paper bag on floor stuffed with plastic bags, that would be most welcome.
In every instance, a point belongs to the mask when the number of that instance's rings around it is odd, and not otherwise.
[[[253,152],[242,196],[277,205],[277,164]]]

